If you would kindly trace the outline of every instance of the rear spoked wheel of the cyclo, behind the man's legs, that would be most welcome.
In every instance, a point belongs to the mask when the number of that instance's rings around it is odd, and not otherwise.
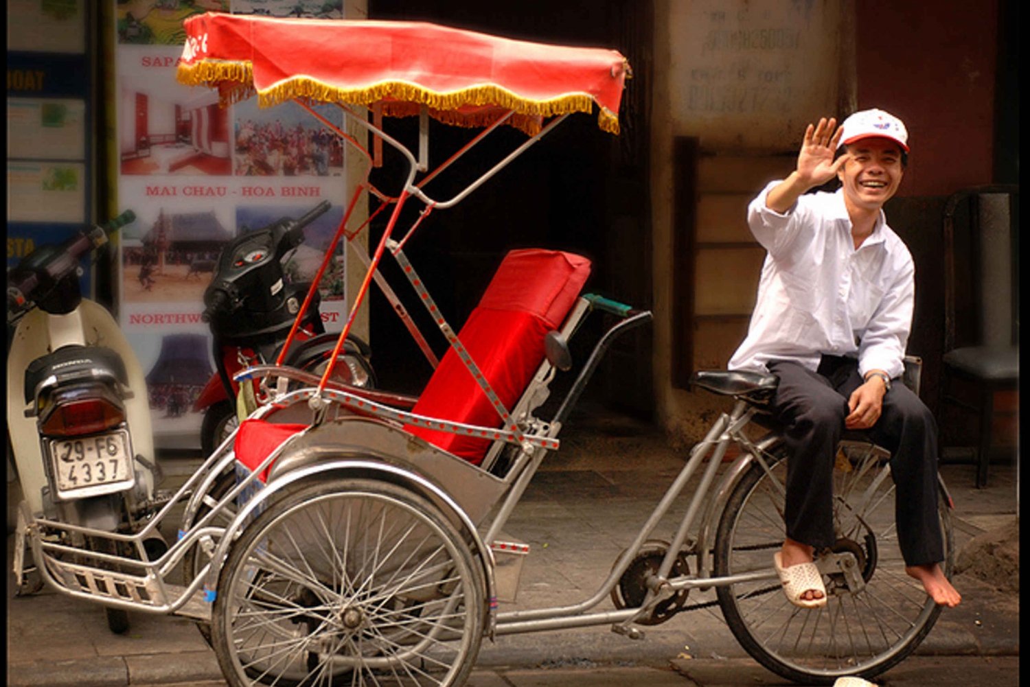
[[[829,684],[842,676],[880,675],[912,653],[940,614],[904,572],[889,457],[872,444],[844,441],[833,471],[837,541],[832,550],[855,555],[864,585],[853,588],[844,574],[824,571],[827,604],[821,609],[792,605],[775,578],[718,588],[719,606],[736,640],[755,660],[788,680]],[[715,544],[719,577],[769,570],[783,544],[786,460],[782,452],[766,460],[771,477],[754,465],[723,511]],[[952,524],[940,501],[942,566],[950,576]]]

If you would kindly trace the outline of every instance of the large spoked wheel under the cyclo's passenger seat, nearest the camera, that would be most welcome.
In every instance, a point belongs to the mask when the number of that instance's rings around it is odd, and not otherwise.
[[[460,685],[484,610],[482,569],[439,508],[336,479],[246,526],[218,580],[212,639],[231,685]]]

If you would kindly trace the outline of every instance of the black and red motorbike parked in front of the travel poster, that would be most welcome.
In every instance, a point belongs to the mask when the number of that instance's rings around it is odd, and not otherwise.
[[[280,364],[321,375],[336,346],[319,312],[320,296],[312,282],[289,282],[285,265],[304,242],[304,228],[331,207],[323,201],[298,219],[282,217],[228,243],[218,255],[214,276],[204,291],[205,309],[216,371],[194,403],[204,413],[201,448],[210,455],[239,425],[239,384],[233,376],[253,365]],[[320,275],[319,275],[320,276]],[[314,281],[318,281],[318,278]],[[306,300],[310,299],[310,300]],[[306,316],[294,327],[302,304]],[[289,347],[291,338],[298,345]],[[369,345],[350,335],[339,355],[335,379],[373,388],[375,373]]]

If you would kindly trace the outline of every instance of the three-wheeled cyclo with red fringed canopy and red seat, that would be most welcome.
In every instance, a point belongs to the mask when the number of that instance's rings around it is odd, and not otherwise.
[[[377,159],[373,146],[313,107],[334,103],[405,165],[396,196],[366,175],[337,232],[337,242],[357,234],[360,228],[346,227],[365,191],[378,200],[377,212],[391,208],[371,256],[351,246],[368,271],[330,359],[371,282],[388,288],[378,271],[387,253],[449,349],[412,398],[330,382],[332,363],[320,378],[286,367],[287,341],[277,364],[238,373],[238,381],[260,381],[256,407],[145,527],[82,533],[111,540],[117,554],[75,549],[70,535],[82,528],[23,511],[20,534],[47,583],[115,608],[197,619],[232,685],[461,685],[483,638],[603,624],[636,638],[640,625],[703,606],[687,603],[691,589],[715,588],[744,648],[796,682],[873,677],[926,637],[939,609],[904,574],[888,454],[861,437],[842,442],[836,458],[837,542],[817,558],[828,604],[802,610],[780,591],[771,554],[783,540],[786,456],[765,407],[777,382],[740,372],[695,375],[697,386],[731,398],[732,409],[690,451],[593,595],[553,608],[499,609],[517,585],[518,566],[507,563],[520,546],[503,527],[559,447],[599,357],[652,315],[581,296],[586,259],[516,250],[455,334],[404,246],[425,214],[458,203],[572,113],[596,105],[600,128],[617,133],[628,73],[621,55],[430,24],[207,13],[185,28],[181,81],[217,88],[227,102],[253,92],[263,105],[293,100],[364,158]],[[383,131],[382,115],[419,117],[417,153]],[[430,117],[483,129],[428,172]],[[528,138],[453,198],[427,195],[428,181],[503,125]],[[419,218],[396,238],[402,208],[416,202]],[[594,311],[615,323],[576,368],[568,341]],[[417,332],[410,318],[406,323]],[[573,371],[557,411],[539,417],[556,374]],[[736,457],[723,469],[731,448]],[[695,478],[693,493],[684,495]],[[951,500],[943,495],[950,573]],[[143,542],[176,504],[184,505],[179,539],[151,557]],[[677,506],[685,507],[682,519],[659,540],[656,526]],[[181,585],[169,580],[180,562]],[[614,610],[600,608],[608,597]]]

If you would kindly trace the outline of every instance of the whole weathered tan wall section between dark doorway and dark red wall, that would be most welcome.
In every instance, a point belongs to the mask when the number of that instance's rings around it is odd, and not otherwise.
[[[724,367],[747,332],[764,253],[746,207],[790,172],[809,122],[852,106],[853,3],[657,0],[655,16],[655,62],[668,65],[657,70],[652,121],[656,414],[690,443],[725,403],[675,387],[674,358]],[[696,139],[692,201],[674,191],[678,137]],[[692,231],[674,226],[678,202],[694,204]],[[677,232],[692,234],[688,295],[674,289],[677,256],[661,249],[682,241]],[[693,346],[674,349],[674,329],[684,327]]]

